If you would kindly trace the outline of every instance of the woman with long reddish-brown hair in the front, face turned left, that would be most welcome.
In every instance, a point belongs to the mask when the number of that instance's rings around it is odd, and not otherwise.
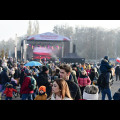
[[[73,100],[69,91],[67,82],[58,78],[54,80],[52,86],[52,95],[48,100]]]

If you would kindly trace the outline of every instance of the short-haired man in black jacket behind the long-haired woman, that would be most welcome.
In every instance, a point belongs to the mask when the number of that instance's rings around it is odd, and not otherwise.
[[[72,69],[69,65],[62,64],[60,66],[60,78],[66,80],[73,100],[80,100],[82,99],[82,95],[79,86],[75,82],[73,82],[73,80],[69,79],[71,70]]]

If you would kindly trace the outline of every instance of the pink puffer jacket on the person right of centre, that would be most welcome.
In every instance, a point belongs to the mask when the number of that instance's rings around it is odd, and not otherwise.
[[[78,78],[78,85],[81,87],[85,87],[87,85],[91,84],[91,80],[89,78],[89,76],[83,76],[81,75],[81,77]]]

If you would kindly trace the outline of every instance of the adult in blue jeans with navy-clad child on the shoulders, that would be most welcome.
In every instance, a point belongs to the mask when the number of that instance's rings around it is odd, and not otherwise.
[[[105,77],[104,87],[100,88],[102,93],[102,100],[105,100],[106,94],[108,96],[108,99],[112,100],[112,94],[110,89],[111,68],[112,66],[109,64],[109,57],[105,56],[104,59],[101,61],[101,65],[100,65],[101,75]]]

